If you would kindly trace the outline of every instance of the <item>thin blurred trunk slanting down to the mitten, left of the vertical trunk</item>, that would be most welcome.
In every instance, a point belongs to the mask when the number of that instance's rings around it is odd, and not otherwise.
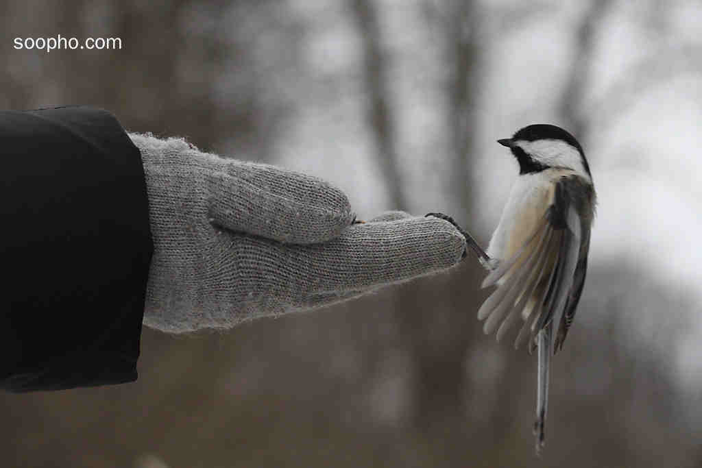
[[[378,163],[383,173],[393,208],[407,209],[399,173],[395,125],[390,110],[388,67],[382,50],[378,12],[372,0],[350,0],[352,12],[361,35],[364,52],[364,79],[370,95],[368,109],[371,132],[375,140]]]

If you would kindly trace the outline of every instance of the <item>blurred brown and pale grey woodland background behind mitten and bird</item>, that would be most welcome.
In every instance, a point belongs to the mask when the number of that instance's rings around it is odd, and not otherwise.
[[[547,447],[536,363],[482,334],[475,262],[225,335],[143,333],[133,385],[0,395],[6,466],[697,467],[702,463],[702,4],[10,0],[0,107],[318,175],[359,218],[450,213],[489,239],[517,163],[568,128],[598,198]],[[121,51],[15,51],[15,37]]]

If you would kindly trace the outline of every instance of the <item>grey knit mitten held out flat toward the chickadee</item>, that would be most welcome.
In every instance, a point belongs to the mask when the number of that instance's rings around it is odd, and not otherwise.
[[[140,149],[154,237],[144,323],[230,328],[455,265],[449,222],[387,213],[352,224],[345,194],[307,175],[130,135]]]

